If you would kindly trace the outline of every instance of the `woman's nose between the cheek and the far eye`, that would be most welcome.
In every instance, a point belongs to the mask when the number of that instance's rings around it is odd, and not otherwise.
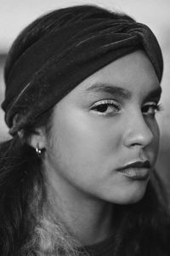
[[[133,113],[128,117],[123,137],[123,143],[127,148],[134,146],[144,148],[152,142],[153,137],[142,113]]]

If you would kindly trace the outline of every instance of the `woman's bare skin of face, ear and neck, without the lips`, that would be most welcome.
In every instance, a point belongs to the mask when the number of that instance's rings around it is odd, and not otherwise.
[[[150,177],[133,179],[117,169],[149,160],[152,172],[161,93],[150,92],[159,89],[148,57],[141,50],[133,52],[85,79],[57,103],[50,137],[40,128],[31,138],[34,148],[38,143],[46,149],[44,169],[58,213],[60,209],[84,244],[111,234],[113,203],[132,204],[144,195]]]

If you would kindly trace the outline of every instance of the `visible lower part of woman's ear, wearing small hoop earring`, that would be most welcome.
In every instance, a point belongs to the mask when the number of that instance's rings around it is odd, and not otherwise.
[[[43,149],[46,148],[46,133],[43,128],[36,128],[35,132],[31,134],[31,137],[29,138],[28,144],[32,148],[38,148]]]

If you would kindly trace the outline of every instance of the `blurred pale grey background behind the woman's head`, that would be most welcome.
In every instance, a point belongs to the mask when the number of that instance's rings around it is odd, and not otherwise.
[[[161,130],[160,153],[156,168],[168,189],[170,199],[170,1],[169,0],[0,0],[0,104],[4,96],[3,65],[6,54],[19,32],[39,15],[53,9],[76,4],[98,4],[133,16],[135,20],[150,26],[161,44],[164,57],[163,111],[157,114]],[[0,110],[0,141],[7,139],[8,128]]]

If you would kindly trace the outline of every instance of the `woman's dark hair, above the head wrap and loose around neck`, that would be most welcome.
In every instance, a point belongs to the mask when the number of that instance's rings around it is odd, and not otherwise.
[[[95,6],[76,6],[55,10],[35,20],[20,33],[8,53],[5,80],[14,63],[31,44],[46,32],[82,15],[127,17]],[[53,108],[27,124],[22,137],[0,144],[0,254],[8,255],[77,255],[71,232],[49,211],[42,158],[28,141],[36,127],[44,126],[50,134]],[[169,212],[161,179],[155,172],[141,201],[116,205],[119,227],[116,229],[117,256],[167,256],[170,247]],[[121,216],[121,217],[120,217]],[[130,237],[130,240],[127,239]]]

